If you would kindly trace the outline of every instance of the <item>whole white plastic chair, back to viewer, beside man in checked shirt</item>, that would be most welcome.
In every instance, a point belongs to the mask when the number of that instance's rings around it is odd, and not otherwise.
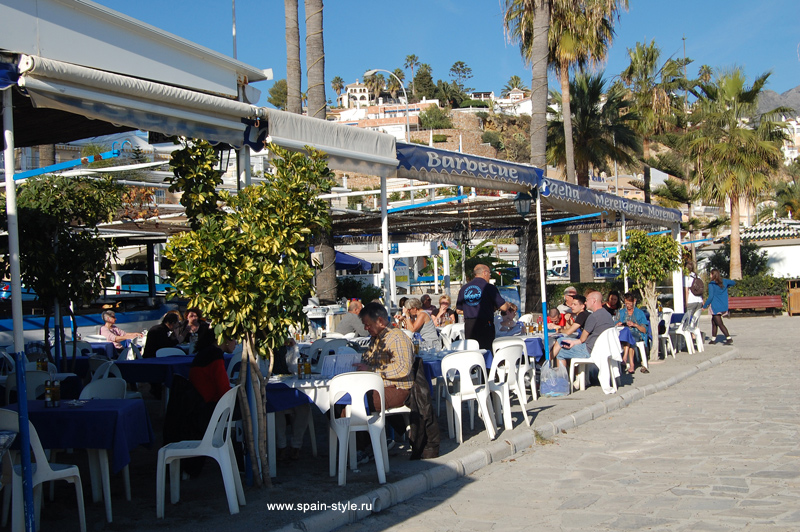
[[[378,470],[378,482],[386,483],[389,452],[386,446],[386,398],[383,392],[383,379],[370,371],[354,371],[337,375],[330,381],[330,475],[336,476],[339,465],[339,485],[344,486],[347,479],[347,456],[350,467],[355,469],[356,432],[368,432]],[[380,396],[380,411],[367,412],[365,396],[374,390]],[[345,394],[350,395],[350,404],[344,408],[344,417],[336,417],[336,401]],[[337,452],[338,444],[338,452]]]

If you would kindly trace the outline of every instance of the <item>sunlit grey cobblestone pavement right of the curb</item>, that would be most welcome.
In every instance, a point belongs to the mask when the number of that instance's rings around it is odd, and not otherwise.
[[[737,358],[340,530],[800,530],[796,319],[728,327]]]

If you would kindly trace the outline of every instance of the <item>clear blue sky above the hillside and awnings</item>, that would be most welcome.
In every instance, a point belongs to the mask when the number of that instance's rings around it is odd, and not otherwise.
[[[96,0],[185,39],[232,55],[231,0]],[[305,72],[303,0],[300,4],[301,56]],[[409,54],[433,67],[433,77],[450,80],[450,67],[464,61],[472,68],[467,85],[499,93],[512,75],[530,85],[530,70],[519,49],[506,43],[498,0],[406,0],[387,4],[366,0],[325,3],[325,81],[361,79],[370,68],[402,68]],[[628,63],[627,49],[655,39],[662,59],[674,54],[694,60],[689,75],[708,64],[740,66],[748,80],[771,70],[768,89],[778,93],[800,85],[800,2],[798,0],[630,0],[616,24],[607,76]],[[279,0],[236,0],[238,59],[272,68],[286,76],[284,9]],[[410,72],[406,73],[410,79]],[[304,74],[305,78],[305,74]],[[261,104],[272,82],[261,82]],[[306,83],[303,80],[303,90]],[[551,85],[552,87],[552,85]]]

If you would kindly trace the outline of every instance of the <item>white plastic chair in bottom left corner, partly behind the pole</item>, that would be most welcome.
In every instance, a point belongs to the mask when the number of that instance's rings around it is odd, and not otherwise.
[[[0,410],[0,430],[10,430],[19,432],[19,414],[11,410]],[[86,514],[83,507],[83,485],[81,484],[81,474],[78,466],[66,464],[51,464],[42,449],[39,434],[33,423],[28,422],[30,432],[31,451],[36,467],[33,468],[33,497],[36,512],[36,523],[41,522],[42,511],[42,483],[53,480],[66,480],[75,485],[75,497],[78,504],[78,522],[81,532],[86,532]],[[6,494],[3,498],[3,525],[8,522],[8,506],[13,501],[11,512],[12,532],[23,532],[25,530],[24,505],[22,500],[22,466],[14,465],[16,451],[9,451],[3,457],[3,476],[11,479],[11,486],[6,487]],[[10,488],[10,495],[9,495]]]

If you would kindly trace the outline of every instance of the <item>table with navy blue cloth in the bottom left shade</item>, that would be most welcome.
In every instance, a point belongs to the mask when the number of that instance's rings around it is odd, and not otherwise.
[[[75,406],[72,406],[75,405]],[[18,411],[18,405],[6,407]],[[62,400],[58,408],[45,408],[44,401],[28,401],[28,419],[36,427],[45,449],[88,449],[92,497],[105,499],[106,519],[112,521],[111,471],[121,471],[131,461],[131,450],[155,441],[150,417],[141,399]],[[16,444],[18,446],[18,444]],[[98,471],[99,469],[99,471]]]

